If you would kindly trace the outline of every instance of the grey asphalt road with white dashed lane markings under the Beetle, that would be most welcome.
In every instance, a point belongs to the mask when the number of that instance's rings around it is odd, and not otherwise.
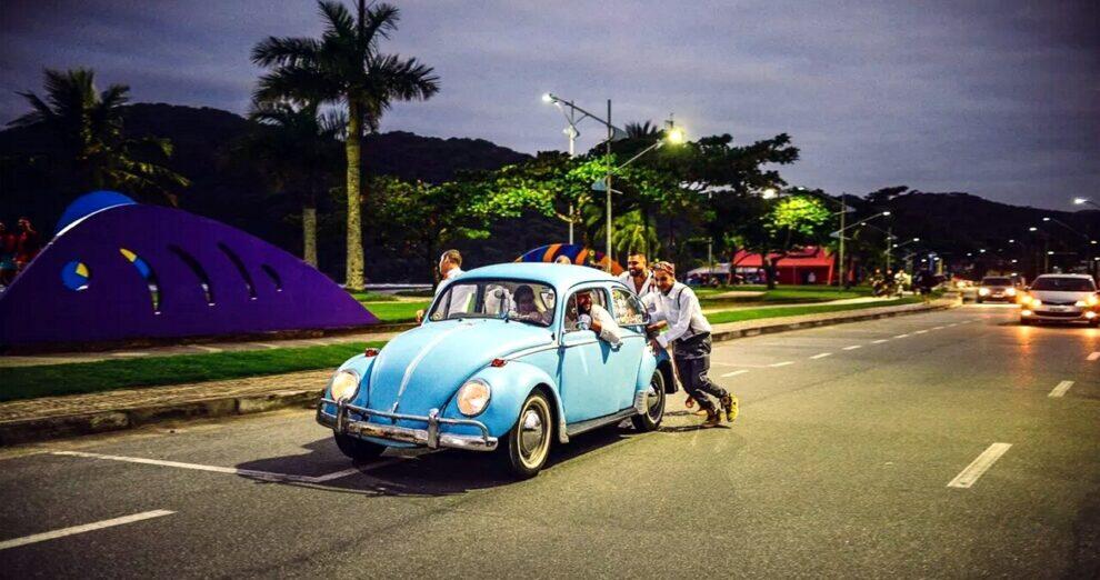
[[[678,396],[519,483],[304,411],[7,450],[0,576],[1093,578],[1096,352],[997,306],[727,342],[732,427]]]

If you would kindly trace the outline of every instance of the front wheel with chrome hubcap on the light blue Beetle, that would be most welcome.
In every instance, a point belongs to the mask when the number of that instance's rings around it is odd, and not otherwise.
[[[546,394],[534,391],[520,407],[520,414],[497,449],[500,460],[512,476],[529,479],[539,474],[550,456],[553,416]]]

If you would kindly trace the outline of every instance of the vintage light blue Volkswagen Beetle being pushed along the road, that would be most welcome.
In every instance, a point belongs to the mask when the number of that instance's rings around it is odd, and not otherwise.
[[[580,292],[614,317],[618,344],[578,316]],[[344,362],[317,420],[356,460],[387,447],[494,451],[529,478],[551,441],[627,418],[643,431],[660,426],[676,381],[668,356],[649,347],[648,320],[627,287],[592,268],[470,270],[447,282],[420,327]]]

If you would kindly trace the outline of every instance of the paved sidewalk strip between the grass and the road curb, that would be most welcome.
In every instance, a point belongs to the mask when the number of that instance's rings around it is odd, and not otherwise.
[[[716,324],[713,337],[716,341],[733,340],[770,332],[929,312],[952,308],[958,303],[957,299],[942,299],[931,304],[884,306],[730,322]],[[340,338],[347,338],[348,341],[381,340],[378,334],[371,334],[369,339],[353,337]],[[248,414],[288,407],[310,408],[317,403],[331,373],[332,369],[324,369],[3,402],[0,403],[0,446],[132,429],[160,421]]]

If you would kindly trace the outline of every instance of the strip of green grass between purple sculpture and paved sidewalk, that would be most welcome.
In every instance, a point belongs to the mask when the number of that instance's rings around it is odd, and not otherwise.
[[[3,370],[0,401],[336,369],[368,346],[382,344],[384,342],[349,342],[296,349],[14,367]]]

